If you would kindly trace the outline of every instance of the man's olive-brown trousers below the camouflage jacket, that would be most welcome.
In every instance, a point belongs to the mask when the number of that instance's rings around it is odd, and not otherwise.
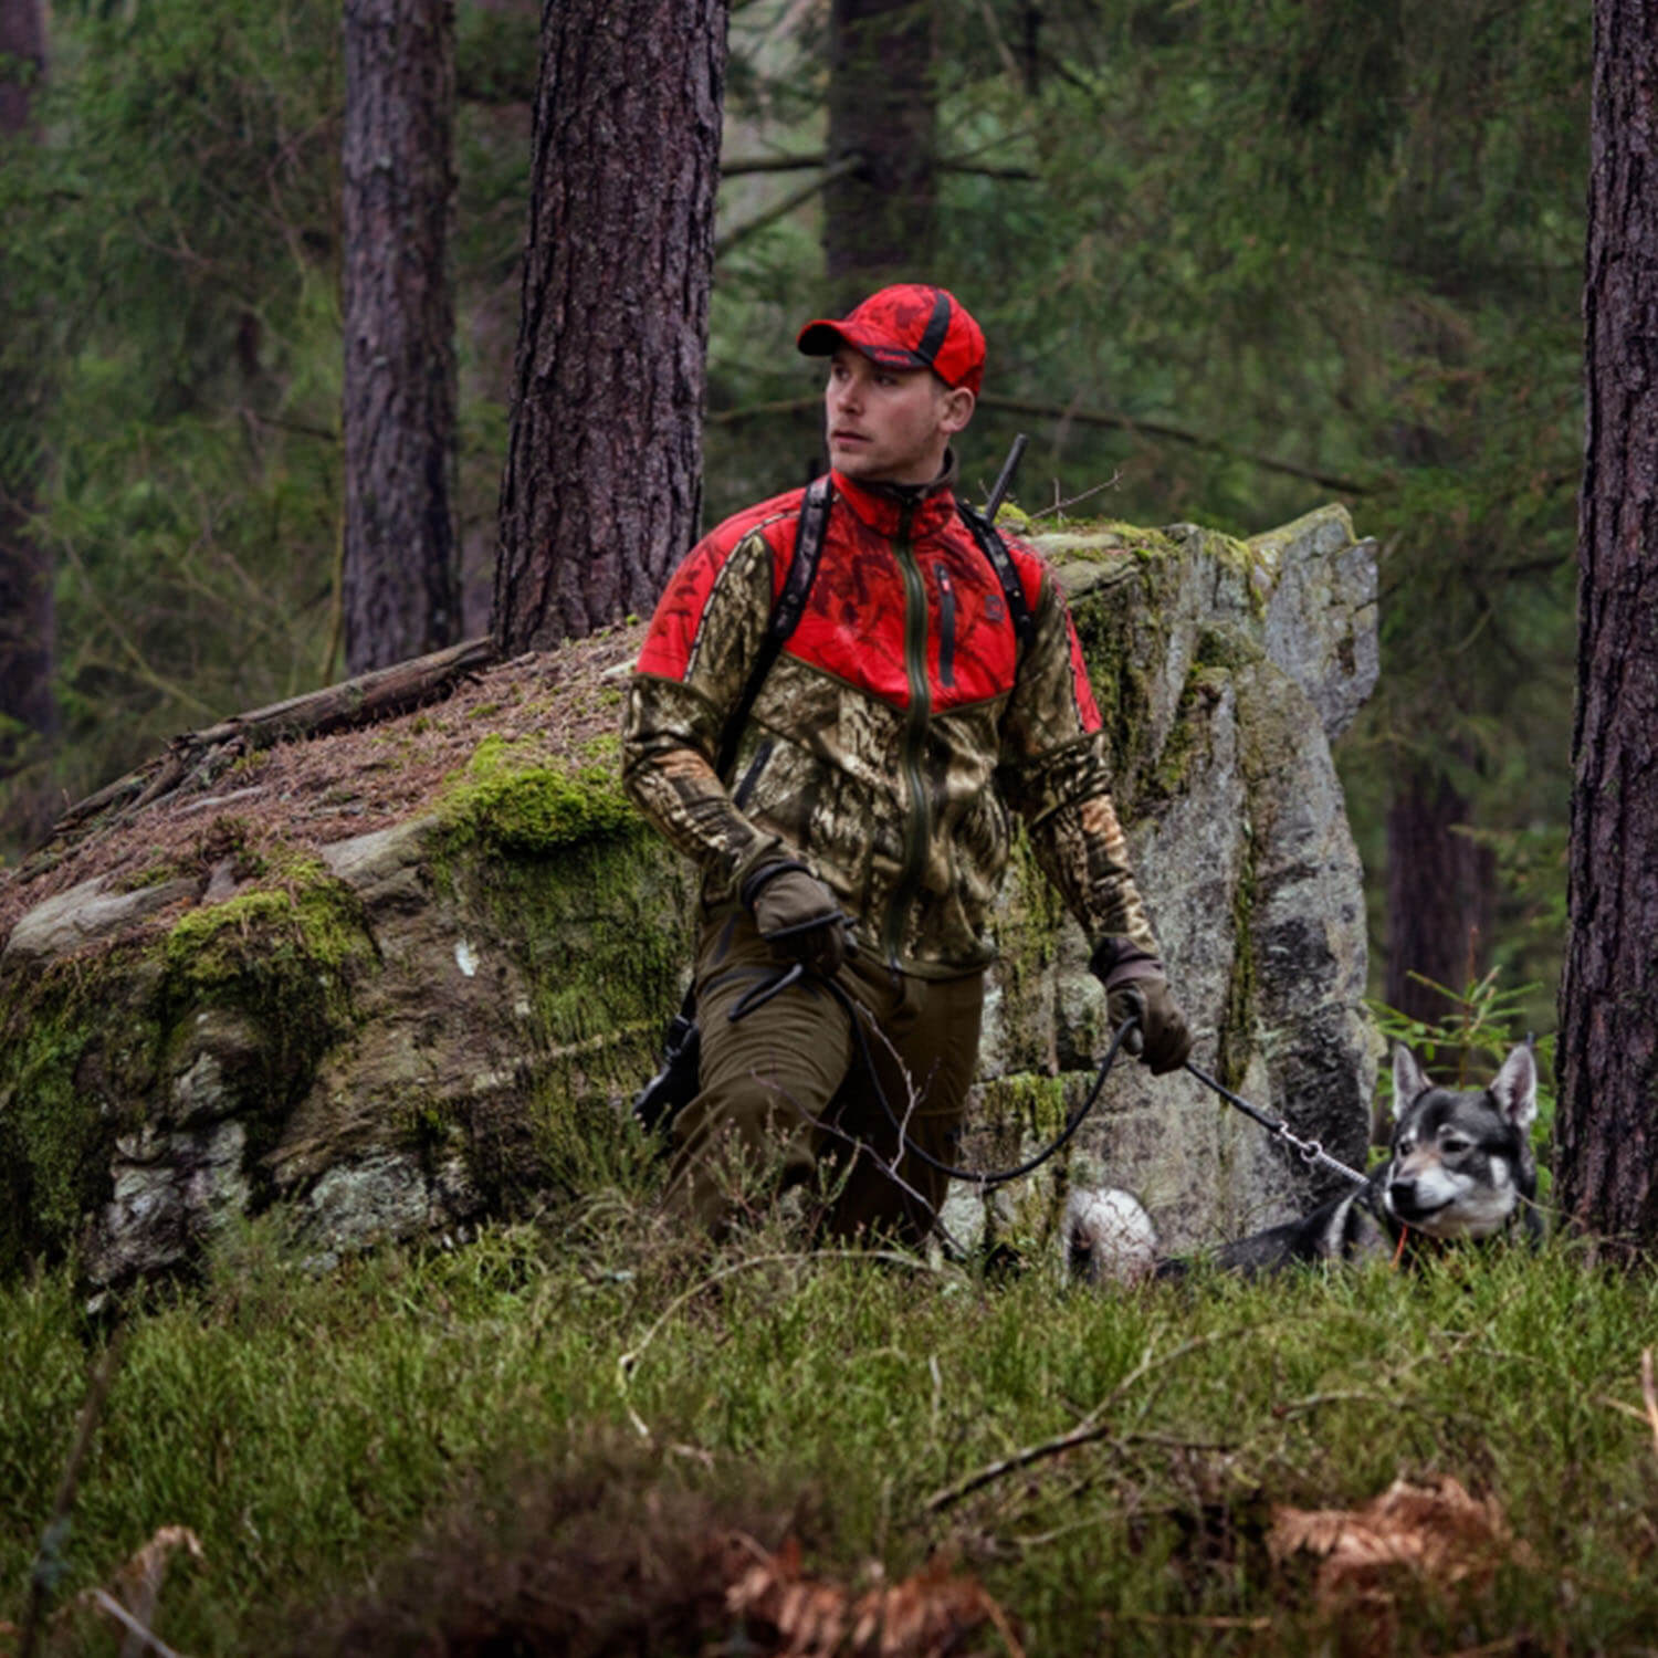
[[[701,1071],[673,1126],[670,1209],[720,1235],[744,1210],[789,1185],[816,1185],[826,1237],[919,1244],[948,1176],[900,1141],[955,1162],[967,1091],[978,1063],[983,973],[928,980],[852,957],[837,985],[859,1010],[870,1064],[847,1010],[802,978],[733,1021],[731,1010],[786,958],[743,910],[715,915],[696,953]]]

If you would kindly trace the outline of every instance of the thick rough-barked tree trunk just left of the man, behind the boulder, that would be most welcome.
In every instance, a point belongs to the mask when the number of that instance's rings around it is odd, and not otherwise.
[[[696,537],[726,0],[547,0],[492,632],[648,612]]]

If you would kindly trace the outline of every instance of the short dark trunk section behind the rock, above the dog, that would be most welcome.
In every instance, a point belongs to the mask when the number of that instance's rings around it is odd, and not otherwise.
[[[1388,802],[1388,978],[1383,996],[1441,1025],[1454,1003],[1424,985],[1462,991],[1486,965],[1496,864],[1459,826],[1469,804],[1434,766],[1413,766]],[[1414,975],[1414,977],[1413,977]]]

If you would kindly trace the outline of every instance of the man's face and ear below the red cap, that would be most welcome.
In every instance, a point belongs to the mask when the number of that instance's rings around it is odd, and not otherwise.
[[[829,463],[859,482],[932,482],[972,411],[972,391],[952,391],[930,368],[884,368],[849,345],[829,360]]]

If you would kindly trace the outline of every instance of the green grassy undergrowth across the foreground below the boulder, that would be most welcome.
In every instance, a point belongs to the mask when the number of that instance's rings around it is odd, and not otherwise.
[[[1658,1650],[1640,1383],[1658,1293],[1563,1242],[1411,1277],[1083,1293],[807,1257],[781,1222],[698,1255],[612,1197],[557,1232],[325,1277],[252,1227],[201,1285],[123,1313],[56,1603],[189,1525],[206,1559],[166,1585],[158,1633],[197,1658],[400,1650],[345,1643],[342,1602],[418,1622],[492,1572],[521,1583],[526,1525],[565,1593],[630,1617],[645,1580],[590,1559],[595,1537],[655,1525],[660,1565],[680,1559],[668,1532],[738,1525],[769,1527],[768,1549],[793,1530],[842,1582],[943,1554],[1028,1653]],[[106,1323],[63,1272],[0,1292],[0,1620],[22,1617]],[[1079,1423],[1096,1436],[965,1491]],[[1386,1575],[1343,1603],[1313,1560],[1273,1563],[1277,1505],[1358,1507],[1399,1474],[1500,1502],[1514,1542],[1489,1573]],[[579,1537],[584,1504],[608,1520]],[[70,1613],[45,1650],[113,1650],[98,1638]],[[521,1650],[718,1650],[690,1640]]]

